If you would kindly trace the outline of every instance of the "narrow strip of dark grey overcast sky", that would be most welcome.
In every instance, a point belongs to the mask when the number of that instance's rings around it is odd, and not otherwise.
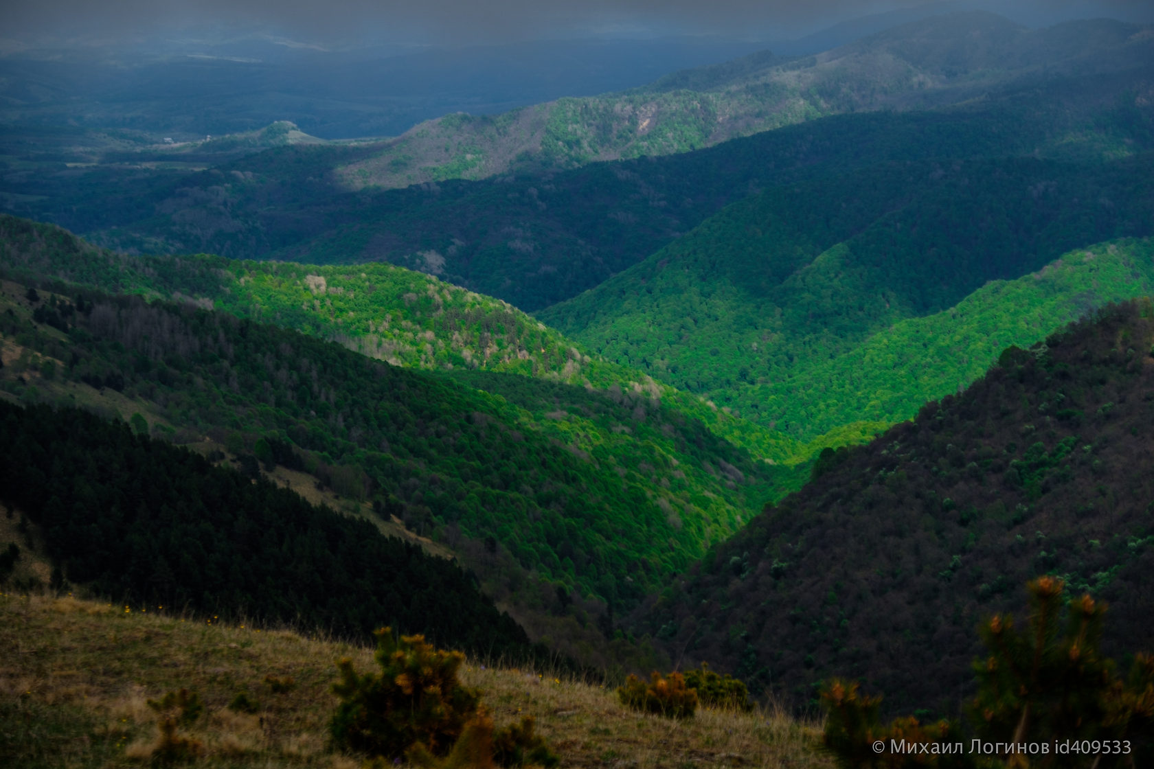
[[[946,0],[932,0],[944,2]],[[977,0],[981,2],[981,0]],[[499,43],[591,35],[799,37],[927,0],[7,0],[0,37],[152,35],[174,27],[263,28],[322,40]],[[992,8],[997,8],[992,2]],[[1151,0],[1003,0],[1058,17],[1147,21]]]

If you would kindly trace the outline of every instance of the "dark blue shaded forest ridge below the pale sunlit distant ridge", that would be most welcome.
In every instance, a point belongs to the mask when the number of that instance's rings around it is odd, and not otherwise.
[[[1087,38],[1093,55],[1082,44],[1059,46],[1063,56],[1082,63],[1051,68],[1044,77],[1029,69],[1034,74],[1010,90],[982,85],[996,77],[994,69],[951,75],[959,88],[969,83],[968,96],[984,88],[981,98],[961,105],[832,115],[694,152],[359,191],[336,169],[368,157],[367,145],[280,146],[232,161],[207,159],[203,165],[213,167],[197,171],[151,154],[128,163],[121,153],[105,163],[97,153],[55,165],[13,158],[3,205],[119,250],[388,261],[534,311],[598,285],[758,190],[893,160],[1037,156],[1096,164],[1149,150],[1149,58],[1132,52],[1122,60],[1134,68],[1110,70],[1118,62],[1117,46],[1106,45],[1119,42],[1112,33]],[[1139,35],[1133,45],[1144,39]],[[929,45],[917,55],[932,58],[935,50]],[[815,66],[856,73],[854,56]],[[852,84],[831,88],[842,85]]]

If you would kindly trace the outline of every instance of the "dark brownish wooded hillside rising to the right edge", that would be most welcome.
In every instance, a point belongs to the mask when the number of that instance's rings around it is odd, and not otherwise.
[[[1036,574],[1110,604],[1107,654],[1154,638],[1154,306],[1111,306],[868,446],[824,452],[667,589],[647,627],[803,703],[862,679],[893,710],[954,710],[981,617]]]

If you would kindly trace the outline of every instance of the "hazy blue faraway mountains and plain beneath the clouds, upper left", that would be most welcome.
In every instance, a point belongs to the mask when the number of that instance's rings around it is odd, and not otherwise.
[[[0,56],[0,122],[192,140],[287,120],[324,138],[396,136],[456,112],[500,113],[635,88],[759,47],[677,37],[329,51],[254,35],[25,50]]]

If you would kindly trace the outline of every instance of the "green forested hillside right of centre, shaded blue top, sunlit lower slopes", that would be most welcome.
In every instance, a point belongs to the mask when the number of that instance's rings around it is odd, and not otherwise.
[[[906,419],[968,383],[1001,346],[1149,291],[1145,242],[1024,276],[1070,249],[1154,232],[1151,164],[1148,154],[1104,166],[902,163],[772,189],[538,316],[610,361],[800,439],[854,420]],[[911,350],[914,338],[896,325],[956,308],[987,281],[1016,279],[1042,285],[969,301],[998,317],[1005,338],[992,345],[937,357],[928,341]],[[906,371],[932,365],[939,376],[932,386],[894,376],[892,359],[865,353],[870,344],[902,356]],[[874,389],[863,392],[867,382]]]

